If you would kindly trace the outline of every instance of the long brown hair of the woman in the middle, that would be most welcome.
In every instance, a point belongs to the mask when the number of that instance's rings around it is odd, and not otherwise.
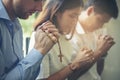
[[[55,13],[64,12],[65,10],[77,7],[83,7],[82,0],[47,0],[42,12],[40,12],[35,21],[35,30],[38,27],[38,25],[41,25],[47,20],[51,20],[53,23],[56,23],[56,20],[54,21]]]

